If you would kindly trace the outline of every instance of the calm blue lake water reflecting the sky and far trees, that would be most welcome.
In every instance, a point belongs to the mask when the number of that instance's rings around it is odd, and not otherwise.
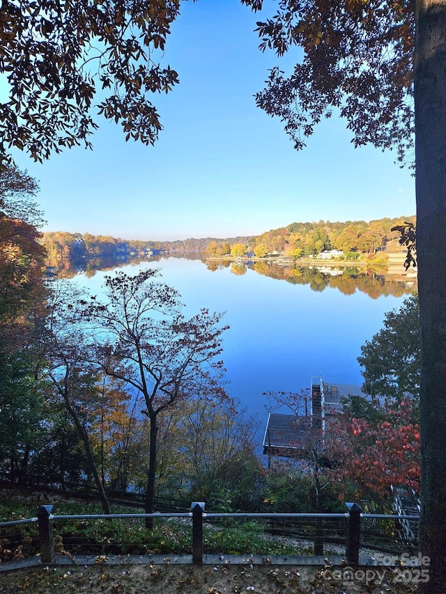
[[[300,391],[312,375],[337,384],[361,384],[360,347],[383,325],[384,314],[401,306],[410,282],[397,285],[379,279],[348,279],[311,271],[311,283],[300,272],[266,276],[259,268],[214,265],[201,260],[160,258],[121,267],[128,274],[158,267],[162,280],[182,296],[190,315],[206,307],[226,312],[223,360],[229,393],[263,425],[268,391]],[[263,272],[262,272],[263,271]],[[236,272],[236,274],[233,274]],[[245,274],[240,274],[245,272]],[[105,274],[78,274],[75,282],[93,294],[101,292]],[[288,276],[286,282],[284,275]],[[366,291],[366,292],[364,292]],[[392,293],[392,294],[389,294]],[[372,298],[369,297],[372,295]]]

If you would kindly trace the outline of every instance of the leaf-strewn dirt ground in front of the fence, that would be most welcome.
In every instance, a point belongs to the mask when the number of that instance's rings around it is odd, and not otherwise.
[[[37,565],[0,572],[0,594],[413,594],[417,572],[326,565]]]

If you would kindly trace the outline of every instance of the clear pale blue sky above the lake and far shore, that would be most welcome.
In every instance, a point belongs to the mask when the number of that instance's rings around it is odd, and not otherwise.
[[[125,143],[121,127],[98,116],[93,152],[66,150],[43,164],[16,155],[40,182],[44,230],[176,240],[415,212],[410,172],[392,153],[355,150],[343,120],[316,127],[297,153],[282,123],[256,107],[254,93],[279,63],[259,52],[259,15],[239,0],[182,7],[162,61],[180,85],[153,96],[164,126],[154,147]]]

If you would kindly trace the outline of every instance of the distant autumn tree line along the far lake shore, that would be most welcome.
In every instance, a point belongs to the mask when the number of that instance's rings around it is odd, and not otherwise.
[[[203,256],[246,256],[252,254],[263,258],[268,254],[281,253],[294,260],[302,256],[313,256],[324,250],[344,251],[344,258],[355,260],[361,253],[375,254],[399,234],[392,227],[401,221],[415,223],[415,217],[346,221],[344,223],[318,221],[313,223],[292,223],[286,227],[272,229],[254,237],[191,237],[186,240],[142,241],[123,240],[110,235],[91,233],[47,232],[41,243],[46,250],[46,263],[59,271],[85,267],[86,261],[101,260],[99,265],[107,267],[132,257],[146,257],[160,253],[194,252]]]

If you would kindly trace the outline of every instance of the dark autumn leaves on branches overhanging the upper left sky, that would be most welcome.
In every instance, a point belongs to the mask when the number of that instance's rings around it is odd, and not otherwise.
[[[2,0],[0,157],[11,148],[36,161],[84,143],[91,114],[121,123],[125,139],[153,144],[162,126],[149,93],[169,92],[178,74],[156,62],[180,0]]]

